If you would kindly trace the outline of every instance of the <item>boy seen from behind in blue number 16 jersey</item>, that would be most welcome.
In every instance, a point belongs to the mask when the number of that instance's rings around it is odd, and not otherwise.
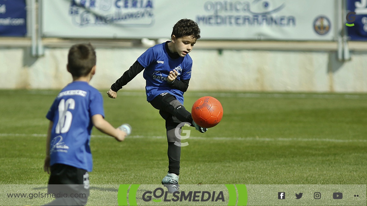
[[[55,98],[46,115],[47,132],[44,171],[50,174],[48,193],[84,194],[78,198],[60,197],[47,205],[86,205],[89,175],[92,171],[90,139],[92,127],[123,141],[129,125],[115,129],[104,119],[102,95],[89,85],[96,70],[96,55],[91,44],[73,45],[68,54],[67,69],[73,82]]]

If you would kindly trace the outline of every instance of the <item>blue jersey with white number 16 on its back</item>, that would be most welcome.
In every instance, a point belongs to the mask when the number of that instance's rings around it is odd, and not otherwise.
[[[91,118],[95,114],[104,117],[103,99],[88,82],[74,81],[61,90],[46,115],[54,122],[50,165],[61,163],[92,171]]]

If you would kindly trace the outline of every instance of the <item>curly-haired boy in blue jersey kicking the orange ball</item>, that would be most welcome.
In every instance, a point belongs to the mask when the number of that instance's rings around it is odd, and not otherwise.
[[[161,183],[171,193],[179,191],[181,137],[175,135],[175,129],[179,128],[180,134],[179,124],[185,122],[201,133],[207,131],[207,128],[197,125],[191,113],[183,107],[183,93],[189,87],[192,70],[189,52],[199,38],[200,29],[196,22],[191,19],[179,20],[173,27],[172,41],[146,50],[107,92],[110,98],[116,98],[117,91],[144,70],[147,101],[166,120],[168,174]]]

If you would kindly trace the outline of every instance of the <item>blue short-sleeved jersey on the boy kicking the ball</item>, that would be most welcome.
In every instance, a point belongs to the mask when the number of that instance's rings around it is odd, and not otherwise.
[[[183,92],[171,88],[167,77],[170,71],[175,69],[178,72],[177,80],[190,79],[192,59],[189,54],[177,59],[170,58],[165,48],[166,44],[167,42],[150,47],[138,58],[138,62],[145,67],[143,77],[146,80],[146,98],[150,102],[159,94],[168,92],[183,104]]]

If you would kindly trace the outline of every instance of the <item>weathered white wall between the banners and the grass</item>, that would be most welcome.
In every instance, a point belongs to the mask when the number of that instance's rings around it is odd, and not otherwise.
[[[146,48],[97,48],[97,74],[91,85],[109,86]],[[61,89],[72,78],[66,71],[68,48],[45,48],[33,58],[29,48],[0,48],[1,89]],[[194,49],[190,90],[367,92],[367,52],[351,52],[338,62],[335,51]],[[126,89],[144,89],[142,73]]]

